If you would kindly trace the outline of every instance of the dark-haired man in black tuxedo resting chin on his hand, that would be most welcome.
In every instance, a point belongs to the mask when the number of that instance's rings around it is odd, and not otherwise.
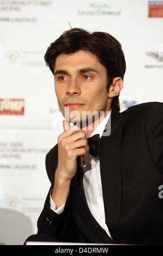
[[[108,33],[70,29],[48,47],[45,60],[66,120],[46,156],[52,186],[38,235],[51,241],[163,244],[163,104],[119,112],[126,62],[121,44]],[[83,115],[89,111],[99,114],[92,115],[92,126]]]

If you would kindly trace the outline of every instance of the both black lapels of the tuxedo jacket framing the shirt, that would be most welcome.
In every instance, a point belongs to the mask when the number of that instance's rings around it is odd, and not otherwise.
[[[76,177],[74,177],[76,181],[78,180],[74,195],[77,206],[76,210],[86,226],[90,230],[93,230],[93,235],[96,234],[97,237],[94,237],[94,239],[96,238],[94,241],[97,242],[118,242],[118,227],[121,211],[121,135],[124,125],[124,120],[122,119],[123,114],[112,109],[108,120],[108,122],[111,122],[111,134],[109,136],[102,136],[100,145],[100,168],[105,222],[108,225],[113,241],[91,215],[85,198],[82,178],[83,172],[79,167],[79,162]],[[108,123],[106,126],[110,127]]]

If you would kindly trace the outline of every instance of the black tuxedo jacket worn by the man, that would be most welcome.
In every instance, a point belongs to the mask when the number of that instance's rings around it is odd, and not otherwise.
[[[100,168],[105,222],[113,240],[91,215],[79,166],[60,215],[49,208],[48,193],[38,233],[58,241],[163,244],[163,103],[142,103],[122,113],[112,109],[110,118],[111,134],[101,138]],[[57,164],[58,144],[46,156],[51,188]]]

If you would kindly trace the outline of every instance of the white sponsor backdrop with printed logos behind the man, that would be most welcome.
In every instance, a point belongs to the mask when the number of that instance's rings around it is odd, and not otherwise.
[[[112,34],[126,56],[121,111],[163,101],[163,1],[0,0],[0,243],[37,231],[50,182],[45,156],[62,116],[43,56],[72,27]],[[162,113],[163,114],[163,113]]]

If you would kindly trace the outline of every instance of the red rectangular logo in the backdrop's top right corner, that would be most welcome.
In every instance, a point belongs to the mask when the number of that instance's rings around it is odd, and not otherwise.
[[[163,17],[163,1],[148,2],[148,17]]]

